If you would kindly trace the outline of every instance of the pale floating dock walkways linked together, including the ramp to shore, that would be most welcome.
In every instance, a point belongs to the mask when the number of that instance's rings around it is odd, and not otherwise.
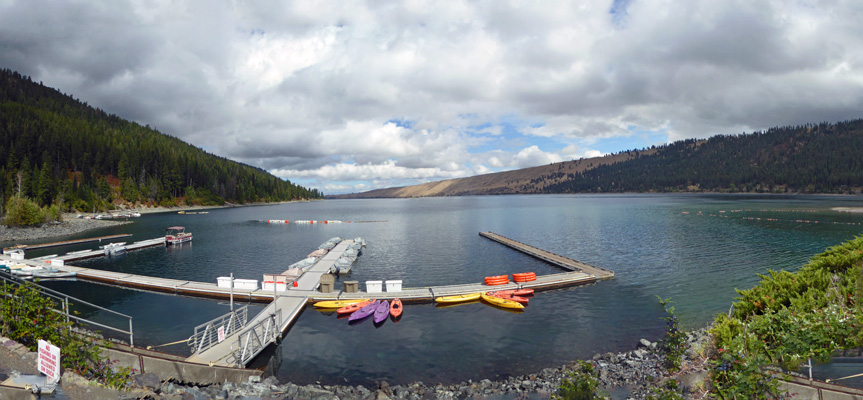
[[[297,317],[302,313],[307,304],[317,301],[361,298],[392,299],[398,297],[404,303],[429,303],[433,302],[436,297],[440,296],[522,288],[543,291],[592,284],[600,279],[610,279],[614,277],[614,272],[610,270],[572,260],[491,232],[482,232],[480,235],[505,244],[508,247],[525,254],[529,254],[558,265],[569,270],[569,272],[540,275],[536,277],[536,280],[529,282],[510,282],[494,286],[485,285],[484,283],[479,282],[459,285],[403,288],[399,291],[388,292],[357,291],[348,293],[344,290],[334,290],[330,293],[322,293],[318,291],[321,277],[330,271],[330,268],[335,264],[336,260],[338,260],[338,258],[347,251],[348,247],[353,244],[353,240],[343,240],[340,242],[335,248],[318,260],[318,262],[316,262],[309,270],[297,278],[295,287],[288,285],[287,289],[281,292],[257,288],[255,290],[238,288],[231,289],[229,287],[219,287],[215,282],[209,283],[181,279],[157,278],[124,272],[104,271],[93,268],[79,268],[71,265],[54,265],[53,268],[62,271],[75,272],[77,274],[76,278],[79,280],[113,286],[171,293],[190,297],[216,299],[228,299],[233,297],[233,299],[237,301],[269,303],[263,311],[249,321],[249,323],[245,324],[243,329],[237,332],[232,332],[230,335],[221,338],[218,344],[214,344],[206,350],[197,352],[187,360],[189,362],[211,366],[246,365],[249,360],[253,359],[254,356],[262,351],[269,343],[278,340],[278,338],[296,321]],[[136,242],[127,246],[127,248],[132,250],[135,248],[145,248],[157,245],[164,245],[164,238]],[[99,254],[97,255],[96,253]],[[93,250],[91,252],[74,252],[59,257],[52,256],[51,259],[70,261],[96,257],[103,254],[104,253],[102,251]],[[11,258],[6,255],[0,256],[0,259],[11,260]],[[16,261],[33,266],[44,266],[47,260]],[[251,346],[252,349],[250,351],[253,352],[251,354],[251,358],[249,358],[249,354],[246,354],[246,350],[249,347],[248,343],[250,342],[258,342],[256,346]]]

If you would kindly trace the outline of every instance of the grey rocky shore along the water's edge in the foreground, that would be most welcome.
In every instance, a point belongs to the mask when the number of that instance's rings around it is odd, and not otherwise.
[[[666,379],[677,379],[688,399],[704,395],[707,372],[704,365],[709,348],[709,334],[705,329],[690,332],[681,372],[668,376],[662,368],[662,355],[656,351],[657,343],[641,339],[632,351],[596,354],[589,360],[594,366],[600,388],[615,399],[645,399]],[[0,346],[0,351],[3,346]],[[0,354],[2,356],[2,354]],[[22,357],[20,354],[16,357]],[[26,357],[26,356],[24,356]],[[35,357],[31,357],[35,359]],[[32,361],[27,359],[26,364]],[[548,399],[557,391],[561,381],[576,368],[576,363],[545,368],[536,373],[509,377],[503,380],[482,379],[450,385],[426,385],[415,382],[408,385],[390,385],[380,382],[374,387],[341,385],[296,385],[280,383],[275,377],[258,382],[224,383],[195,386],[181,382],[162,382],[152,374],[134,375],[134,388],[121,392],[101,388],[74,376],[64,375],[63,396],[68,399],[92,399],[97,393],[104,398],[151,398],[166,400],[186,399]],[[0,376],[3,375],[0,368]],[[16,372],[5,371],[14,375]]]

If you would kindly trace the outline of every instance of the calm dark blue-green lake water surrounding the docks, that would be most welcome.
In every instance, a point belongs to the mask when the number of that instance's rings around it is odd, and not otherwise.
[[[281,363],[274,374],[283,382],[452,383],[530,373],[597,352],[631,350],[640,338],[657,340],[663,312],[656,296],[672,298],[685,328],[702,327],[717,313],[728,311],[735,288],[755,285],[757,273],[768,268],[796,270],[825,248],[860,234],[863,215],[830,210],[853,206],[863,206],[863,198],[547,195],[326,200],[214,209],[199,215],[145,215],[133,224],[73,237],[132,233],[137,241],[159,237],[167,226],[183,225],[194,233],[193,243],[74,264],[209,282],[230,273],[260,280],[261,274],[283,271],[331,237],[362,236],[367,248],[353,272],[337,280],[337,288],[344,280],[401,279],[405,287],[416,287],[480,282],[485,276],[513,272],[560,272],[478,235],[492,231],[615,271],[612,281],[538,293],[521,314],[483,304],[409,305],[400,322],[375,327],[371,322],[349,326],[335,315],[309,309],[276,350]],[[352,223],[261,222],[266,219]],[[28,257],[94,247],[33,251]],[[133,316],[138,346],[185,339],[196,325],[229,310],[227,302],[83,282],[48,285]],[[251,308],[257,313],[262,307]],[[163,349],[189,354],[185,345]]]

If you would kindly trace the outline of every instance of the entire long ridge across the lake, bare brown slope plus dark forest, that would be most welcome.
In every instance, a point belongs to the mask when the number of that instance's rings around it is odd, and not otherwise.
[[[743,192],[860,193],[863,120],[688,139],[550,165],[329,196]]]

